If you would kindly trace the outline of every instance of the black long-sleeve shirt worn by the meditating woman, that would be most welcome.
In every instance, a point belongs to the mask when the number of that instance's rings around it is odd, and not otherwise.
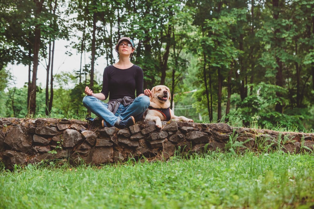
[[[105,68],[101,93],[111,99],[121,99],[129,96],[135,99],[143,94],[143,70],[137,65],[127,69],[119,69],[113,65]]]

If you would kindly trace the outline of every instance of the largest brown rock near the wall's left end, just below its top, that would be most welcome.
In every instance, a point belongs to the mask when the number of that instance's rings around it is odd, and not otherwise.
[[[11,149],[27,153],[32,147],[32,139],[27,137],[20,126],[12,126],[8,129],[4,139]]]

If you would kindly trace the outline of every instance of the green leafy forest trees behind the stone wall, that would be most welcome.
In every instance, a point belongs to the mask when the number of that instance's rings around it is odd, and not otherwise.
[[[313,131],[314,0],[1,0],[0,116],[85,118],[84,87],[102,86],[95,61],[115,63],[122,36],[176,115]],[[54,73],[57,40],[80,57],[71,73]],[[28,66],[24,87],[9,63]]]

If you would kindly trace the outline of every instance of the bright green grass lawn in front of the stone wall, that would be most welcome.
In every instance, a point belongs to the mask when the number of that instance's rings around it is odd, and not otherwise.
[[[313,154],[208,153],[0,175],[0,208],[313,208]]]

